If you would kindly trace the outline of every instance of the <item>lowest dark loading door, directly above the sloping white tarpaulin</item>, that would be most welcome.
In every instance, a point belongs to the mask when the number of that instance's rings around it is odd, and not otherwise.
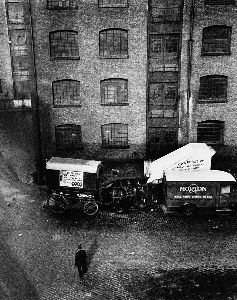
[[[175,127],[148,128],[149,158],[160,158],[176,149]]]

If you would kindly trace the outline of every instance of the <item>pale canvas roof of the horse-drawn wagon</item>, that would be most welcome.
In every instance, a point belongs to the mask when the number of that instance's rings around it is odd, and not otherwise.
[[[74,172],[97,173],[102,161],[89,161],[85,159],[52,157],[46,163],[46,169]]]

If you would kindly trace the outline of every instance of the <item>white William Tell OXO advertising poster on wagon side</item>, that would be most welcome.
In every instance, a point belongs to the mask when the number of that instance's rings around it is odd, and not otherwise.
[[[61,171],[59,185],[63,187],[83,187],[83,172]]]

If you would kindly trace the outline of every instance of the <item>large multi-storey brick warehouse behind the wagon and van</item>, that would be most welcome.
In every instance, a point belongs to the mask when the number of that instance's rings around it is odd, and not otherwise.
[[[144,160],[196,142],[237,167],[236,1],[10,2],[24,3],[32,21],[43,167],[52,156],[98,159],[110,174],[142,176]]]

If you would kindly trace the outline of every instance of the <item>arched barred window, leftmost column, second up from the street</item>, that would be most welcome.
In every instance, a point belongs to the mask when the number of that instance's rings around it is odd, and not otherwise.
[[[80,104],[80,82],[76,80],[57,80],[52,82],[53,104]]]

